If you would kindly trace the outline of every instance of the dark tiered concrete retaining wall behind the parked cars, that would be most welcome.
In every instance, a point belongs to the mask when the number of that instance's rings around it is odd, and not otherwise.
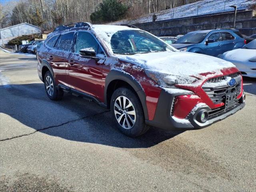
[[[256,34],[253,14],[252,10],[242,10],[236,14],[236,28],[245,35]],[[157,36],[176,36],[196,30],[232,28],[233,24],[234,12],[224,12],[134,25]]]

